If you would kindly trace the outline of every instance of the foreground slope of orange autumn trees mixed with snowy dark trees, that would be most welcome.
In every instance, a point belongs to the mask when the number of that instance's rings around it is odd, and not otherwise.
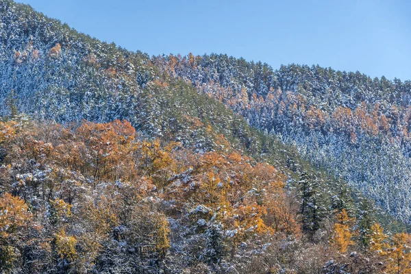
[[[318,179],[302,173],[289,190],[223,136],[196,153],[119,120],[0,129],[2,273],[397,273],[411,262],[411,236],[385,234],[367,203],[358,212],[340,188],[327,208]]]

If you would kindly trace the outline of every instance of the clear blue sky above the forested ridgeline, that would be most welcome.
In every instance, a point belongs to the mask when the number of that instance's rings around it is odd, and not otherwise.
[[[227,53],[411,79],[411,1],[18,0],[150,55]]]

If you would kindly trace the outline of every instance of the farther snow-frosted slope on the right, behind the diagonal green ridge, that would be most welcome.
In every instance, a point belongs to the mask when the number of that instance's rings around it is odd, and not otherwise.
[[[153,58],[409,222],[411,82],[227,55]]]

